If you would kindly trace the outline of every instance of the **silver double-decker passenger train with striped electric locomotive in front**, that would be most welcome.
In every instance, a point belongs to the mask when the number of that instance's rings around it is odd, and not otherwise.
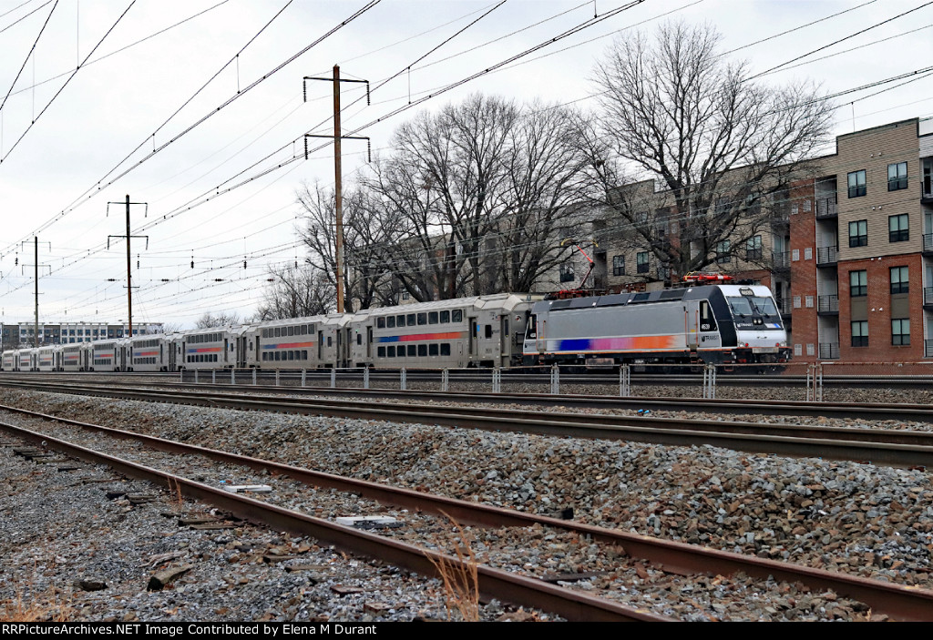
[[[10,349],[4,371],[461,369],[761,364],[790,360],[761,285],[655,292],[498,293],[174,334]]]

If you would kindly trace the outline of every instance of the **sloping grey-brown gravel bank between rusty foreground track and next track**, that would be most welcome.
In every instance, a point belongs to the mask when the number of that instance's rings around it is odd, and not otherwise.
[[[573,509],[581,522],[931,588],[933,485],[925,470],[755,456],[708,446],[603,443],[16,391],[3,391],[2,402],[522,511]],[[8,490],[4,499],[15,493]],[[53,499],[57,496],[49,491],[42,502]],[[220,538],[225,536],[232,534]],[[547,554],[540,559],[546,562]],[[22,572],[23,559],[18,560]],[[632,588],[631,582],[619,584],[620,591]],[[3,589],[7,599],[9,587]],[[437,591],[435,584],[439,600],[434,608],[408,606],[401,619],[422,609],[428,617],[443,617]],[[734,611],[728,589],[722,598],[709,606],[706,619],[758,619]],[[798,600],[815,601],[824,615],[829,606],[833,619],[831,596],[801,593]],[[172,606],[167,606],[169,614],[162,608],[155,615],[175,615]],[[806,611],[790,607],[771,619],[806,620]],[[250,613],[255,620],[296,615],[274,606]],[[840,613],[842,619],[846,615]]]

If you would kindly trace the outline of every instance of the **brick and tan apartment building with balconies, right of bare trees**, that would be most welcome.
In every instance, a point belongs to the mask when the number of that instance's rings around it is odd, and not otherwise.
[[[838,136],[770,206],[707,268],[771,287],[795,361],[933,362],[933,118]],[[670,284],[652,260],[601,238],[596,287]]]

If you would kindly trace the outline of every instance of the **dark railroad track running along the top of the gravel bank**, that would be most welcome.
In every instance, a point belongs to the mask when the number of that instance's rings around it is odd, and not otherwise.
[[[10,381],[3,381],[0,384],[32,388],[29,385]],[[845,429],[650,415],[596,415],[571,412],[555,415],[546,411],[450,407],[437,404],[416,405],[411,402],[374,406],[372,403],[364,404],[349,400],[276,399],[255,395],[246,396],[243,391],[233,393],[226,390],[113,388],[113,385],[54,383],[44,383],[40,386],[40,390],[146,402],[175,402],[235,410],[330,415],[553,436],[687,446],[710,444],[755,453],[818,456],[829,459],[870,461],[875,464],[933,467],[933,432],[912,429]],[[450,400],[449,397],[447,399]],[[783,412],[786,403],[768,406],[773,412]],[[863,407],[862,411],[867,412],[868,408]],[[925,415],[924,409],[909,408],[906,411],[913,412],[910,415],[914,416]],[[890,419],[889,415],[884,413],[881,415]]]

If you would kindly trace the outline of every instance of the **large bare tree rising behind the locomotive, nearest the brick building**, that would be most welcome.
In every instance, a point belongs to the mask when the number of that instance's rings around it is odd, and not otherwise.
[[[831,112],[815,87],[757,83],[745,62],[723,58],[719,41],[711,26],[667,23],[653,40],[618,40],[595,72],[593,134],[606,155],[591,158],[593,184],[610,226],[640,236],[676,275],[714,262],[725,240],[739,247],[758,234],[829,136]],[[662,185],[662,207],[619,192],[620,160]]]

